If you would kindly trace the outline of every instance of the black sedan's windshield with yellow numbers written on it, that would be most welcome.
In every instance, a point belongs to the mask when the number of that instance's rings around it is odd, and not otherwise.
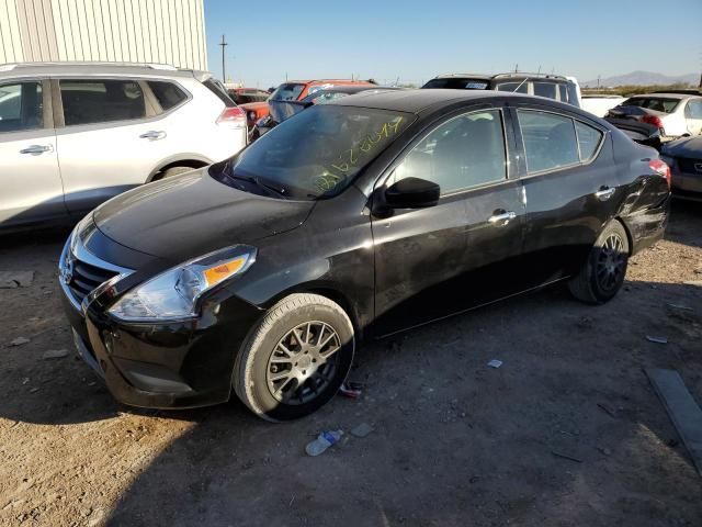
[[[274,127],[226,164],[213,166],[211,173],[236,188],[253,182],[278,198],[331,197],[414,119],[403,112],[320,104]]]

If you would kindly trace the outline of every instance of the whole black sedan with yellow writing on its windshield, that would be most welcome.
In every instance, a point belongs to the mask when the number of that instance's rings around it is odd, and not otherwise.
[[[669,170],[546,99],[416,90],[312,108],[235,157],[76,227],[76,345],[120,401],[233,391],[285,421],[337,393],[363,338],[556,282],[603,303],[663,236]]]

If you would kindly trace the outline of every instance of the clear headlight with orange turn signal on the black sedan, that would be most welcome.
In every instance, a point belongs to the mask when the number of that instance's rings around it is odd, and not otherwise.
[[[246,272],[256,260],[256,248],[236,245],[210,253],[144,282],[122,296],[109,312],[122,321],[186,318],[196,315],[205,291]]]

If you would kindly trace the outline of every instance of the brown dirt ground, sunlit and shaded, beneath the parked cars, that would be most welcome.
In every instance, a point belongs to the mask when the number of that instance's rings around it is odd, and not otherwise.
[[[673,203],[609,304],[556,288],[367,345],[362,399],[285,425],[238,402],[115,403],[72,356],[66,235],[0,240],[0,270],[35,271],[0,289],[1,525],[702,525],[702,479],[643,372],[677,369],[702,403],[702,204]],[[360,423],[374,431],[305,456]]]

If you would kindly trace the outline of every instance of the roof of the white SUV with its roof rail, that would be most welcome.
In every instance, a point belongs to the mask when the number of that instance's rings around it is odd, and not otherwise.
[[[45,75],[134,75],[154,77],[195,77],[204,80],[211,77],[207,71],[176,68],[168,64],[141,63],[14,63],[0,65],[0,77],[32,77]]]

